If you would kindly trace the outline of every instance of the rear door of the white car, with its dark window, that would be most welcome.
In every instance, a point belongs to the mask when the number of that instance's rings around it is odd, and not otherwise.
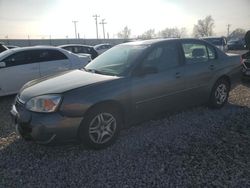
[[[46,76],[71,69],[69,58],[59,50],[45,49],[38,51],[40,76]]]

